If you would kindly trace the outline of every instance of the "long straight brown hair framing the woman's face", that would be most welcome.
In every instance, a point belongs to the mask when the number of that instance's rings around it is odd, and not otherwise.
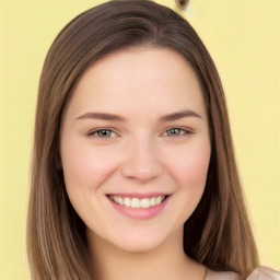
[[[203,90],[211,131],[206,190],[186,221],[184,249],[213,270],[248,275],[258,265],[234,159],[223,89],[215,66],[187,21],[147,0],[110,1],[72,20],[52,43],[37,100],[27,252],[32,279],[93,279],[85,225],[65,188],[59,156],[60,117],[84,71],[112,51],[170,48],[191,66]]]

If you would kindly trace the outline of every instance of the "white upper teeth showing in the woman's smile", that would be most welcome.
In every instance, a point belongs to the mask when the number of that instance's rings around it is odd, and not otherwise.
[[[130,197],[116,197],[109,196],[113,201],[120,206],[130,207],[135,209],[151,208],[159,206],[165,198],[165,196],[152,197],[152,198],[130,198]]]

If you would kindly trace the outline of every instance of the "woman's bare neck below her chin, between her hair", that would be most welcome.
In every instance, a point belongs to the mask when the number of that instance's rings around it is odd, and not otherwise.
[[[93,269],[98,280],[203,280],[205,267],[186,256],[183,230],[149,252],[127,252],[88,234]]]

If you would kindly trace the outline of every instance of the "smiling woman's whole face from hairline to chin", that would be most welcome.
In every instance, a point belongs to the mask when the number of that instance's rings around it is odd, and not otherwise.
[[[143,252],[183,234],[211,147],[201,89],[180,55],[130,48],[95,62],[63,112],[60,140],[90,240]]]

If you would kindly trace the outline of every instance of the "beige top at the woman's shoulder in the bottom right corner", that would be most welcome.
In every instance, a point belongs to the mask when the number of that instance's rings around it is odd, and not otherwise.
[[[241,277],[234,272],[217,272],[207,269],[206,280],[242,280]],[[280,271],[268,267],[256,268],[246,280],[280,280]]]

